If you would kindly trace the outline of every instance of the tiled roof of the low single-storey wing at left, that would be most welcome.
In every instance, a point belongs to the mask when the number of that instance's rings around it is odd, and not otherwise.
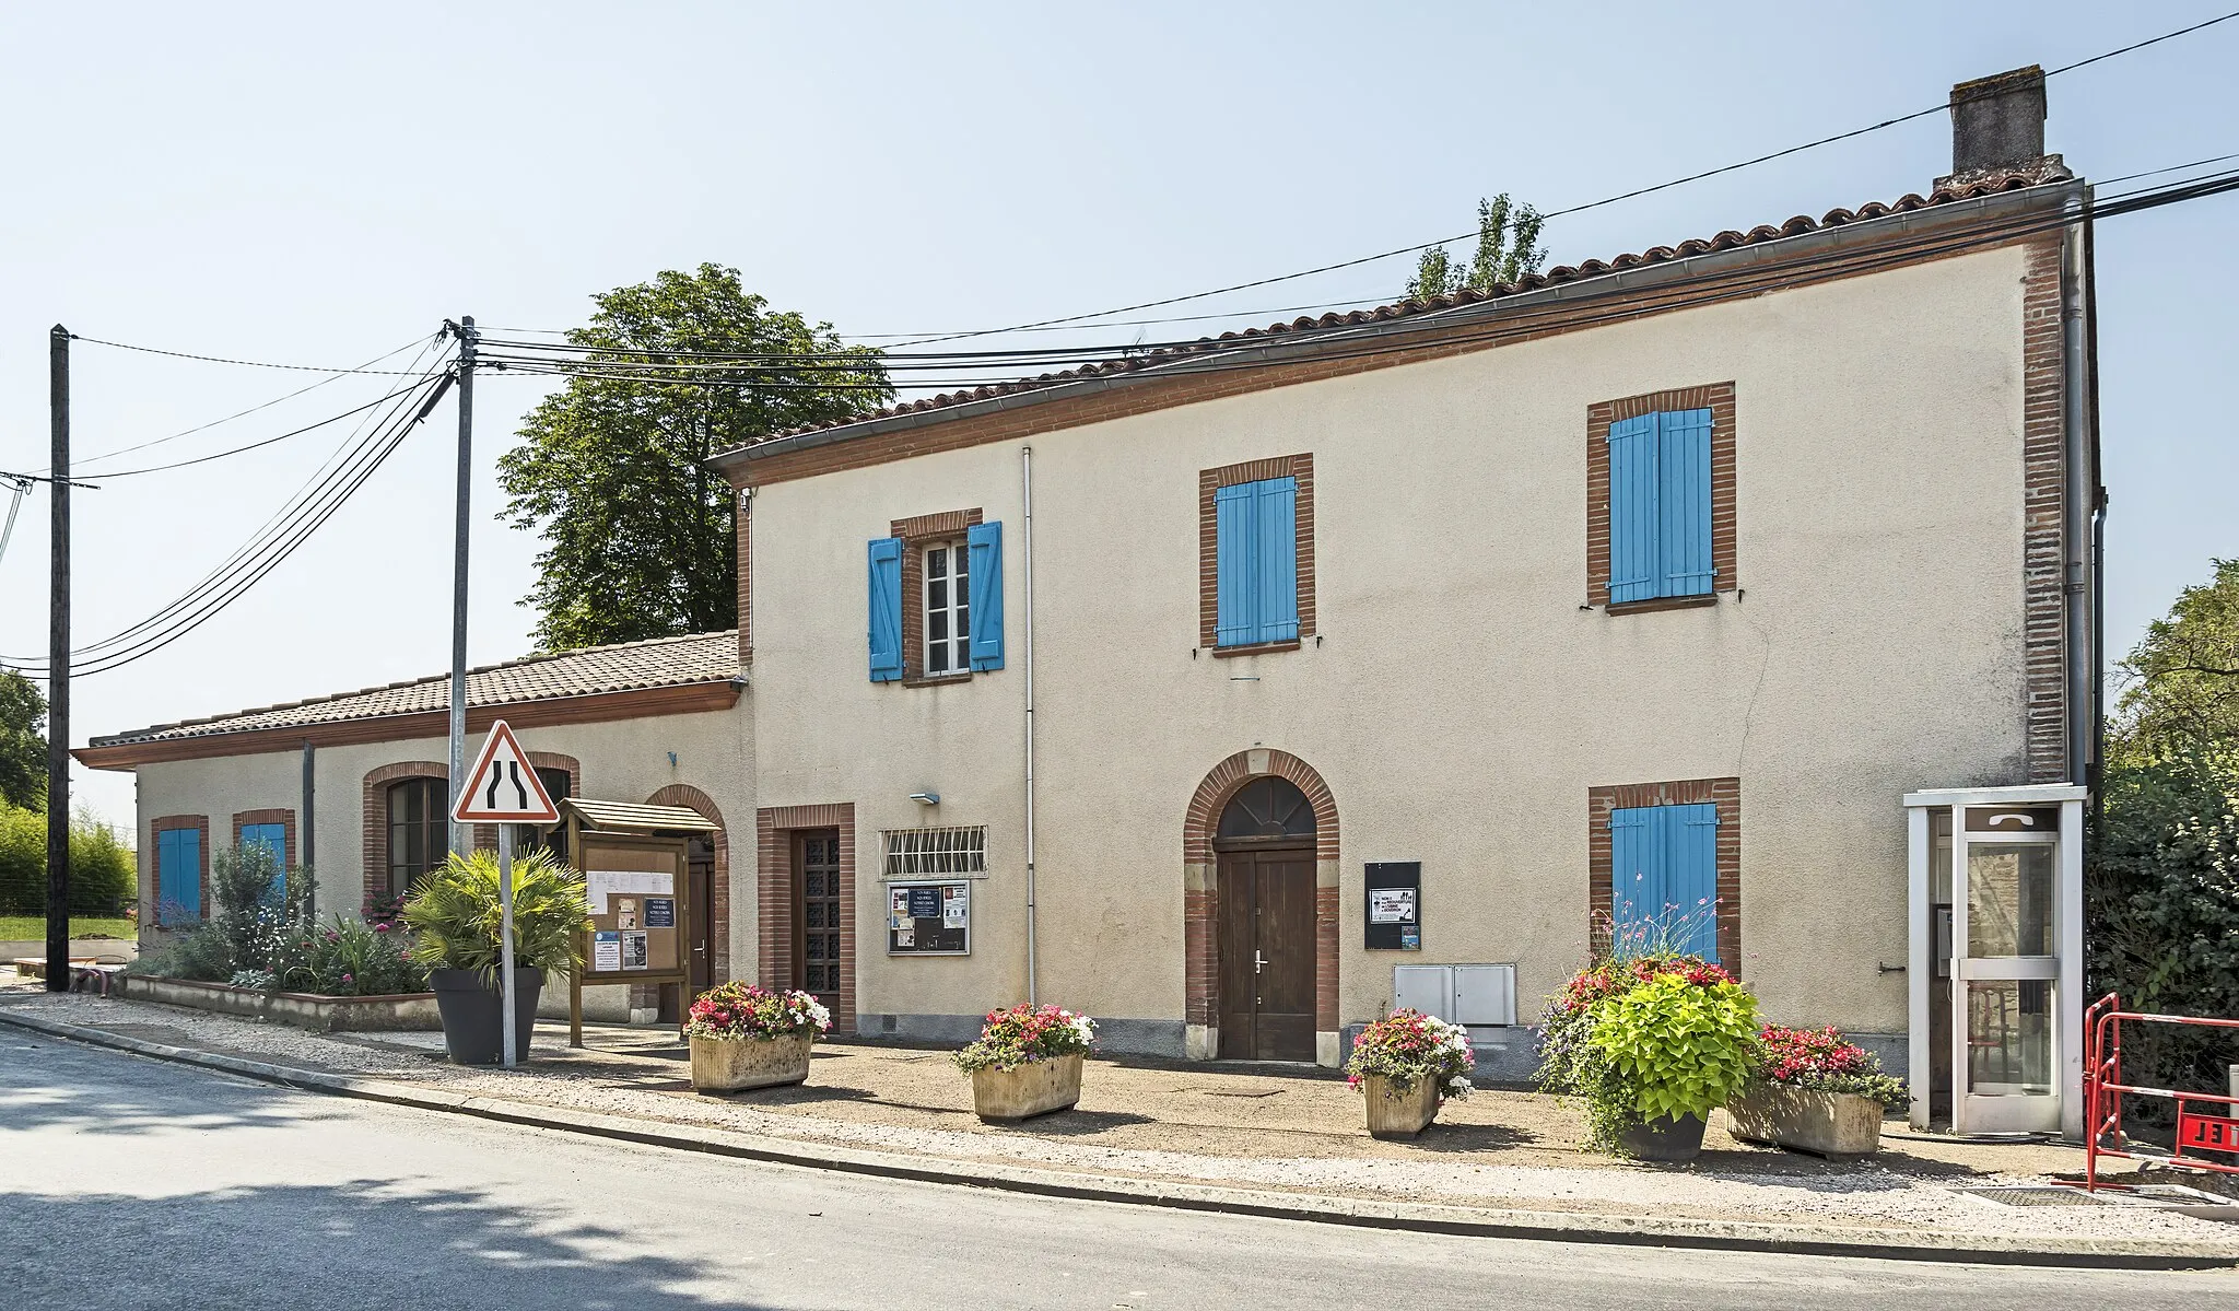
[[[466,726],[596,724],[647,715],[728,710],[739,704],[739,632],[694,632],[558,654],[533,654],[466,672]],[[296,751],[305,742],[394,742],[450,731],[450,675],[336,692],[208,719],[181,719],[94,737],[74,755],[92,769],[163,760]]]

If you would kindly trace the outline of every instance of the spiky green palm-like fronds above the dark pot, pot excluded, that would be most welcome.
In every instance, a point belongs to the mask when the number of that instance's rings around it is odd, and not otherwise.
[[[405,901],[412,959],[434,970],[477,970],[497,977],[499,928],[497,852],[457,852],[412,887]],[[573,970],[582,964],[582,932],[591,928],[582,878],[549,852],[513,861],[513,966]]]

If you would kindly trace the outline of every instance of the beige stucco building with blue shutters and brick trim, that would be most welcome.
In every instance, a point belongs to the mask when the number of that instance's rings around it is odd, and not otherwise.
[[[1449,999],[1518,1073],[1661,926],[1903,1064],[1901,798],[2093,753],[2087,188],[2037,96],[1928,197],[723,453],[737,634],[611,715],[472,699],[578,796],[699,798],[719,970],[864,1033],[1032,995],[1328,1064],[1395,966],[1502,966]],[[311,854],[372,887],[441,731],[349,722]],[[296,793],[300,726],[249,733],[83,753],[139,769],[143,899],[152,825]]]

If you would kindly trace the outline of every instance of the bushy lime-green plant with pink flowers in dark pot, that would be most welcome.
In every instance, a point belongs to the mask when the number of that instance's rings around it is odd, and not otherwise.
[[[1758,999],[1702,957],[1610,959],[1545,1015],[1540,1087],[1585,1103],[1587,1145],[1688,1161],[1758,1062]]]

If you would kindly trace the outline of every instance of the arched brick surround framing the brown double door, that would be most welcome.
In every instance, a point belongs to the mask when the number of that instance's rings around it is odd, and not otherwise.
[[[1283,778],[1314,807],[1314,1031],[1337,1033],[1339,887],[1323,881],[1337,865],[1337,798],[1321,773],[1287,751],[1238,751],[1205,775],[1182,813],[1182,1008],[1184,1024],[1220,1024],[1220,881],[1214,831],[1220,811],[1254,778]]]

